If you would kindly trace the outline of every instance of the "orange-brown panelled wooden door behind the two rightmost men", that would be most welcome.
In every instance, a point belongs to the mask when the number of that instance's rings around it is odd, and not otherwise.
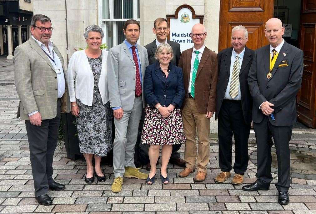
[[[273,17],[273,8],[273,0],[221,0],[218,51],[231,46],[232,29],[237,25],[248,30],[248,48],[267,45],[264,25]]]

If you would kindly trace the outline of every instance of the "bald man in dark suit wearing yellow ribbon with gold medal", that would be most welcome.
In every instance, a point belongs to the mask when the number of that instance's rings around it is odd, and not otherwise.
[[[278,202],[286,205],[290,187],[289,141],[296,120],[295,96],[302,82],[303,51],[283,40],[284,27],[277,18],[267,21],[264,34],[270,45],[255,51],[248,76],[258,147],[257,180],[242,189],[269,190],[272,136],[278,162],[278,182],[275,184]]]

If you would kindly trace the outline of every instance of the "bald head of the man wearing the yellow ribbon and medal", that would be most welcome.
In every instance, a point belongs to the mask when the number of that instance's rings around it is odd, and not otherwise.
[[[264,35],[269,41],[270,45],[276,48],[283,41],[284,27],[282,21],[277,18],[271,18],[265,23]]]

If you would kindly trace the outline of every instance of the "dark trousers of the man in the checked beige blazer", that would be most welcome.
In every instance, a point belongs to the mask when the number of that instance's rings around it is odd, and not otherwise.
[[[52,185],[53,156],[57,146],[60,123],[60,100],[57,101],[57,115],[53,119],[42,120],[41,126],[25,120],[30,159],[34,180],[35,197],[46,194]]]

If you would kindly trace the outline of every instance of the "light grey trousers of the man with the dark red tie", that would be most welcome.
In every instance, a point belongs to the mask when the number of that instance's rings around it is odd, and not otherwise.
[[[134,106],[130,111],[123,110],[123,118],[114,118],[115,138],[113,142],[113,173],[123,177],[125,167],[135,167],[134,154],[137,141],[137,131],[142,116],[142,97],[135,97]]]

